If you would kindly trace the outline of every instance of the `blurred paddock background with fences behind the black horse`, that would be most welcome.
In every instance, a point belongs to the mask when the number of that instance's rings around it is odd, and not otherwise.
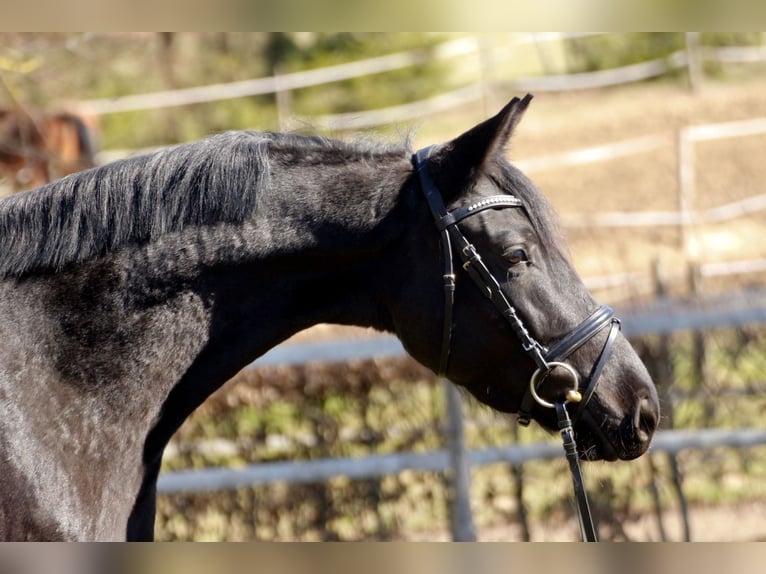
[[[649,455],[584,465],[602,539],[766,540],[766,33],[3,33],[0,195],[229,129],[417,148],[526,92],[510,159],[663,402]],[[157,537],[577,540],[559,441],[514,423],[319,325],[182,427]]]

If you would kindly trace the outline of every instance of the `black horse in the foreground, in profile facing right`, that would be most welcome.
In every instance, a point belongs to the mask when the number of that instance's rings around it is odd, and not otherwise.
[[[571,343],[597,309],[553,211],[504,157],[529,100],[415,167],[404,145],[225,133],[0,201],[0,538],[151,539],[176,429],[319,322],[391,331],[478,400],[517,412],[535,352]],[[449,214],[431,212],[426,187]],[[463,267],[480,254],[497,293],[461,267],[444,273],[445,229],[472,242]],[[576,419],[581,456],[641,455],[658,420],[646,369],[600,322],[575,343],[573,373],[603,369]],[[544,375],[539,393],[564,400],[569,370]],[[552,409],[531,405],[555,427]]]

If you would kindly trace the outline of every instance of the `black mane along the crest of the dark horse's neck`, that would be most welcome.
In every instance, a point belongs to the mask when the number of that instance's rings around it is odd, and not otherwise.
[[[225,132],[72,174],[0,201],[0,277],[59,270],[189,226],[241,223],[273,162],[328,164],[406,154],[403,146]]]

